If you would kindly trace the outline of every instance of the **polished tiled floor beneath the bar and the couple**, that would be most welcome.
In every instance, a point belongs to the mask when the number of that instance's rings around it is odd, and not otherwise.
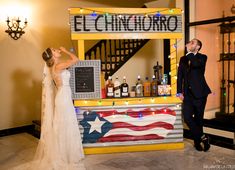
[[[0,170],[30,161],[38,139],[22,133],[0,138]],[[183,150],[87,155],[87,170],[235,170],[235,150],[212,146],[198,152],[190,140]]]

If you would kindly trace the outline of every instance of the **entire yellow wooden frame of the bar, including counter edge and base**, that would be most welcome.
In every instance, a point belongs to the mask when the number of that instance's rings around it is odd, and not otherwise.
[[[178,8],[70,8],[70,15],[76,14],[91,14],[95,11],[97,14],[161,14],[182,15],[182,10]],[[127,12],[128,11],[128,12]],[[81,106],[112,106],[115,102],[117,105],[136,105],[136,104],[180,104],[182,103],[176,94],[177,80],[177,39],[182,39],[182,33],[71,33],[72,40],[78,43],[78,57],[80,60],[85,60],[84,40],[100,40],[100,39],[170,39],[170,64],[171,64],[171,94],[170,97],[149,97],[149,98],[127,98],[127,99],[89,99],[75,100],[74,105]],[[133,145],[133,146],[107,146],[107,147],[85,147],[85,154],[103,154],[117,152],[137,152],[137,151],[152,151],[152,150],[169,150],[183,149],[184,143],[159,143],[150,145]]]

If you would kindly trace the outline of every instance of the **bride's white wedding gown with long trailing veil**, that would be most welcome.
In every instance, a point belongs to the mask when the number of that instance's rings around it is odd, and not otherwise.
[[[15,170],[84,170],[78,121],[71,98],[70,72],[63,70],[55,87],[49,68],[44,67],[41,136],[33,161]],[[54,95],[56,94],[56,95]]]

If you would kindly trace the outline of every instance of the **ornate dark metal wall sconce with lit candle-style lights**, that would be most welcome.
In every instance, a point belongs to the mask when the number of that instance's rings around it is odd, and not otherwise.
[[[23,31],[25,27],[27,26],[28,22],[25,18],[24,24],[21,24],[21,20],[18,19],[12,19],[9,20],[9,17],[6,20],[8,29],[5,31],[10,35],[11,38],[14,40],[18,40],[25,32]]]

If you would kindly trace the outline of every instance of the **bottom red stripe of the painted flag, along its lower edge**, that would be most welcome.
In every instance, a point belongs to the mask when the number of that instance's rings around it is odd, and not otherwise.
[[[164,137],[156,134],[149,134],[143,136],[119,134],[119,135],[110,135],[107,137],[102,137],[97,142],[125,142],[125,141],[153,140],[153,139],[164,139]]]

